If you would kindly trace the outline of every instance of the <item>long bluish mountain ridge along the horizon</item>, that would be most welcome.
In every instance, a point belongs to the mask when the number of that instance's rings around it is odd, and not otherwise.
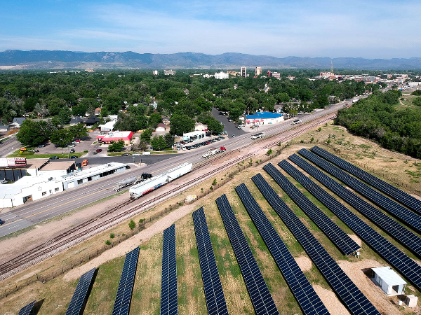
[[[335,69],[421,69],[421,58],[364,59],[333,58]],[[0,52],[0,69],[236,69],[239,66],[263,69],[330,69],[329,57],[285,57],[226,52],[206,55],[196,52],[138,54],[137,52],[73,52],[64,50],[6,50]]]

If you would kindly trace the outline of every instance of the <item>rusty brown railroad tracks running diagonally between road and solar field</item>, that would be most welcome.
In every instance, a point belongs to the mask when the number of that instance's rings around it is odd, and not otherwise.
[[[276,146],[280,142],[285,142],[290,139],[293,139],[294,137],[298,136],[299,134],[302,134],[304,132],[307,132],[307,130],[312,129],[316,125],[320,125],[322,123],[327,122],[328,120],[333,119],[332,116],[325,118],[323,120],[319,120],[316,123],[309,124],[306,127],[301,128],[300,130],[293,132],[292,134],[289,134],[286,137],[283,137],[281,139],[276,139],[276,141],[273,141],[270,144],[265,144],[264,147],[272,147]],[[252,144],[249,144],[248,146],[245,146],[244,148],[248,148],[250,146],[255,146],[256,144],[261,143],[262,141],[267,141],[268,138],[276,137],[279,134],[274,134],[270,137],[267,137],[265,139],[260,139],[258,141],[253,141]],[[121,221],[126,219],[127,216],[135,215],[140,213],[139,210],[146,209],[148,206],[152,207],[152,204],[156,204],[157,202],[162,202],[167,197],[172,197],[171,195],[176,195],[180,193],[182,190],[185,190],[189,188],[190,186],[194,186],[200,181],[204,181],[205,179],[214,176],[218,172],[221,172],[223,169],[227,169],[229,167],[232,167],[236,165],[238,162],[241,162],[242,160],[245,160],[247,158],[253,157],[257,151],[260,151],[262,148],[258,148],[255,151],[251,153],[247,153],[245,155],[241,155],[241,157],[236,158],[232,161],[227,162],[227,164],[222,165],[220,167],[217,167],[216,169],[213,169],[210,172],[207,172],[206,174],[203,174],[199,177],[196,177],[195,179],[192,179],[191,181],[187,181],[185,183],[182,183],[180,186],[176,187],[173,190],[167,191],[166,193],[162,193],[159,196],[156,196],[152,198],[152,200],[147,200],[146,202],[142,202],[140,204],[135,205],[135,207],[131,207],[130,209],[126,209],[125,211],[122,211],[119,214],[116,214],[110,218],[106,218],[103,221],[100,221],[100,219],[105,218],[111,214],[113,214],[115,211],[118,211],[122,207],[126,207],[129,204],[132,204],[135,202],[135,200],[127,200],[126,202],[123,202],[122,204],[119,204],[116,207],[112,207],[111,209],[108,209],[107,211],[103,212],[102,214],[96,216],[95,218],[91,218],[90,220],[81,223],[80,225],[77,225],[76,227],[67,230],[66,232],[63,232],[62,234],[58,235],[57,237],[54,237],[53,239],[50,239],[46,241],[44,244],[41,244],[39,246],[36,246],[32,248],[31,250],[22,253],[15,258],[9,260],[8,262],[5,262],[3,265],[0,266],[0,281],[6,279],[8,276],[12,276],[13,274],[16,274],[17,272],[22,271],[26,267],[29,267],[31,265],[34,265],[42,260],[45,260],[48,257],[51,257],[55,255],[56,253],[62,251],[65,248],[68,248],[70,246],[73,246],[74,244],[78,244],[80,241],[83,241],[84,239],[87,239],[88,237],[91,237],[95,234],[98,234],[99,232],[102,232],[102,230],[105,230],[109,228],[112,225],[119,224]],[[215,160],[220,160],[221,158],[224,158],[225,155],[220,155],[214,159],[212,159],[212,162]],[[209,162],[209,161],[207,161]],[[193,168],[193,170],[200,169],[204,165],[207,165],[208,163],[197,163],[196,166]],[[96,223],[96,224],[95,224]],[[92,226],[89,226],[92,225]]]

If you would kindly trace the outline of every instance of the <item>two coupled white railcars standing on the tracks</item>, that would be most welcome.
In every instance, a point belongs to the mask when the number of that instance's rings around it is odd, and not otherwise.
[[[159,174],[158,176],[136,184],[129,189],[131,199],[138,199],[150,191],[155,190],[174,179],[178,179],[178,177],[190,172],[192,167],[192,162],[185,162],[182,165],[178,165],[178,167],[168,170],[166,173]]]

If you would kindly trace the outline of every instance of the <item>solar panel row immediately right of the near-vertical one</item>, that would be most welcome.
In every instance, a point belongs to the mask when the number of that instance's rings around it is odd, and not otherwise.
[[[208,314],[228,314],[203,207],[193,212],[193,223]]]

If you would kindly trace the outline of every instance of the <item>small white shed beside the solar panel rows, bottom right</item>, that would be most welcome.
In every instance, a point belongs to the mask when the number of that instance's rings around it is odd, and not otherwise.
[[[372,268],[374,281],[387,295],[404,294],[406,282],[391,267]]]

